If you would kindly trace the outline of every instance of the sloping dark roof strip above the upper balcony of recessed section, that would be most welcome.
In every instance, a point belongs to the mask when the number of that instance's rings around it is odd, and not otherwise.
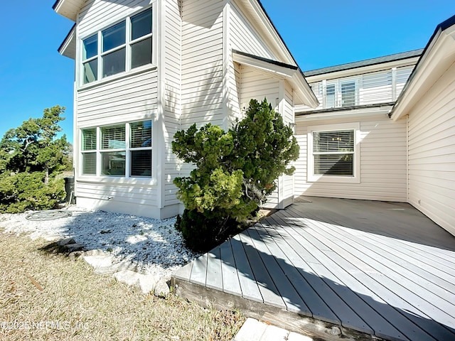
[[[310,77],[310,76],[322,75],[325,73],[351,70],[351,69],[355,69],[357,67],[378,65],[378,64],[387,63],[387,62],[395,62],[396,60],[403,60],[403,59],[407,59],[407,58],[419,57],[419,55],[422,54],[423,50],[424,50],[423,48],[420,48],[418,50],[412,50],[412,51],[407,51],[407,52],[402,52],[402,53],[395,53],[393,55],[385,55],[382,57],[360,60],[358,62],[353,62],[353,63],[346,63],[346,64],[341,64],[341,65],[322,67],[320,69],[304,71],[304,75],[306,77]]]

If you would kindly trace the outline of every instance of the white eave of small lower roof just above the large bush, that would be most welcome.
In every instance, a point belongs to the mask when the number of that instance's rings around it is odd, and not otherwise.
[[[297,99],[299,99],[294,104],[305,104],[312,108],[316,108],[319,105],[318,99],[316,99],[314,92],[311,91],[304,75],[302,75],[298,67],[294,65],[289,65],[289,67],[277,65],[266,60],[235,52],[232,53],[232,60],[240,65],[247,65],[262,72],[267,72],[267,74],[279,80],[287,80],[293,87]]]

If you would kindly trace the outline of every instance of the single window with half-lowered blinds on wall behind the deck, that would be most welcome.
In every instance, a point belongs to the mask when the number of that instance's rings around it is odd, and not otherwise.
[[[354,130],[314,131],[314,175],[354,175]]]

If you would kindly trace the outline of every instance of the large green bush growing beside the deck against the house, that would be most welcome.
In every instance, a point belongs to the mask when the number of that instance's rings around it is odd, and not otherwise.
[[[292,130],[264,99],[252,99],[245,119],[223,131],[193,124],[178,131],[173,152],[196,168],[176,178],[177,196],[186,207],[177,227],[193,249],[208,249],[252,217],[276,188],[275,180],[299,156]]]

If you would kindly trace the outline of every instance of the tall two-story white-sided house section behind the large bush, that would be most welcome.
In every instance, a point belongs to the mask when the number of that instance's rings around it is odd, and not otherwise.
[[[58,0],[75,22],[59,48],[75,60],[77,205],[166,218],[181,212],[173,178],[191,167],[176,131],[228,129],[266,97],[294,124],[316,96],[257,0]],[[293,179],[269,199],[285,207]]]

